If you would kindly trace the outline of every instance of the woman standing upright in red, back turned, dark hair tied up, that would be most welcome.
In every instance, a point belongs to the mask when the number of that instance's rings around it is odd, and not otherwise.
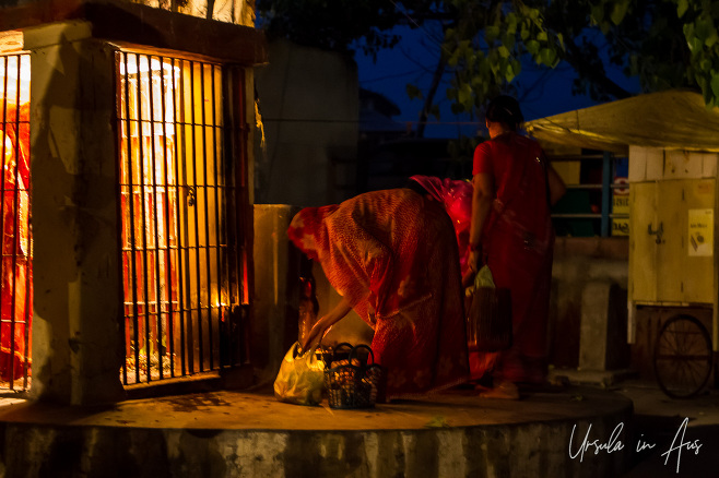
[[[518,398],[517,384],[546,380],[546,328],[554,229],[551,206],[566,190],[535,141],[517,130],[517,100],[490,103],[490,140],[474,151],[469,264],[487,264],[498,288],[511,294],[512,346],[499,354],[494,387],[483,396]]]

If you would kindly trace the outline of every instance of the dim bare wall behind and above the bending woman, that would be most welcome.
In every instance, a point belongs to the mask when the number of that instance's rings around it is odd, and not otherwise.
[[[256,154],[256,202],[319,206],[351,195],[360,97],[353,60],[285,40],[270,45],[256,84],[266,146]]]

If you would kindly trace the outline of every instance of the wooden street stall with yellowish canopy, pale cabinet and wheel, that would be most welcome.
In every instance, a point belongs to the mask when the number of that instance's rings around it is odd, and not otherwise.
[[[541,142],[628,156],[633,366],[672,397],[699,393],[719,342],[719,109],[699,94],[668,91],[532,121],[528,131]]]

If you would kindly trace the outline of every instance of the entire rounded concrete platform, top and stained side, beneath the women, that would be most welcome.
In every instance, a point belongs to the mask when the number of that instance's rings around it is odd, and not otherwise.
[[[516,402],[455,390],[362,410],[283,404],[267,391],[107,408],[7,401],[0,476],[615,477],[632,414],[625,396],[577,386]]]

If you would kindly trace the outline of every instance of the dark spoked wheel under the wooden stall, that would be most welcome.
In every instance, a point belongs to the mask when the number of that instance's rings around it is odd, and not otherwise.
[[[659,387],[672,398],[696,395],[711,374],[711,339],[692,315],[664,322],[655,345],[655,373]]]

